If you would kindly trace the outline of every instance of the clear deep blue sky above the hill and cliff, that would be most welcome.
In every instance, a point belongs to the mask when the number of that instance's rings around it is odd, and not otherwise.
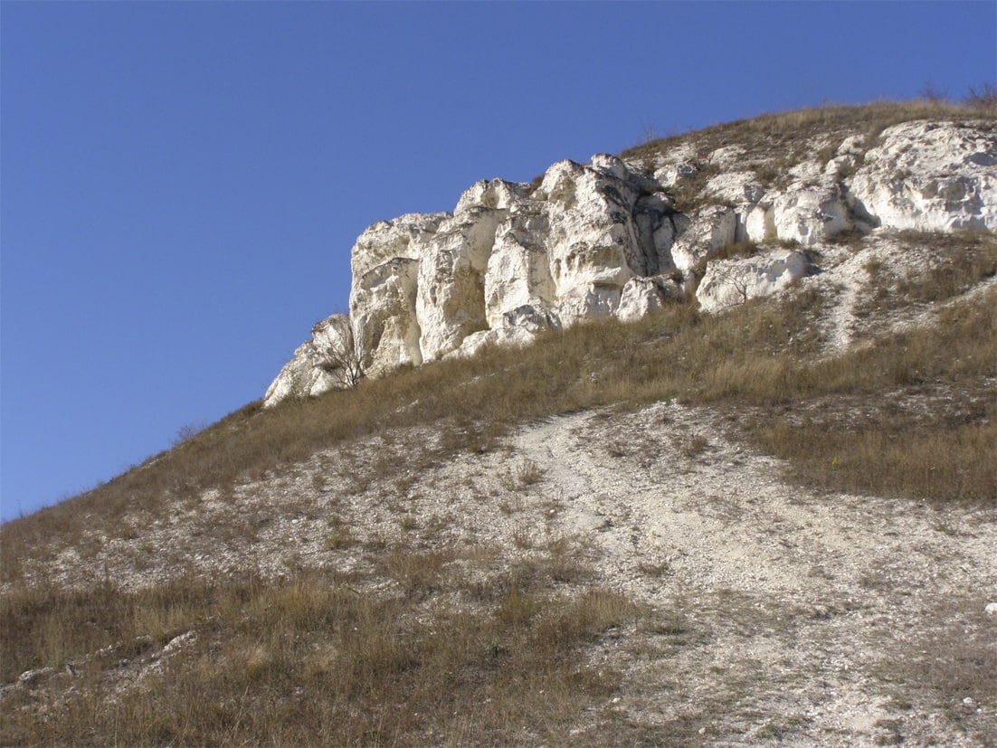
[[[0,513],[260,397],[369,223],[997,78],[997,4],[0,2]]]

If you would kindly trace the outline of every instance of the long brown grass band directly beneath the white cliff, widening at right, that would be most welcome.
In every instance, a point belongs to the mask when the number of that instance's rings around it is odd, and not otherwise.
[[[997,268],[997,242],[988,234],[909,232],[900,238],[936,247],[935,264],[898,278],[869,263],[864,312],[873,329],[875,318],[887,317],[891,308],[943,302]],[[453,434],[450,449],[486,450],[526,420],[667,398],[765,407],[752,438],[793,460],[801,479],[828,488],[992,500],[997,491],[987,461],[952,452],[977,439],[971,435],[979,429],[993,428],[987,394],[997,374],[997,340],[993,291],[988,294],[939,309],[932,324],[870,337],[868,345],[835,357],[824,355],[826,341],[816,324],[834,301],[831,292],[802,286],[779,303],[754,301],[717,316],[700,313],[694,304],[674,304],[633,324],[580,324],[547,333],[523,350],[494,348],[473,359],[403,369],[273,410],[252,403],[94,491],[5,525],[4,578],[16,578],[19,557],[71,540],[84,524],[113,527],[137,508],[165,512],[172,501],[279,471],[319,449],[386,429],[445,421]],[[882,412],[885,403],[911,400],[913,393],[925,407]],[[831,407],[844,398],[868,405],[873,414],[856,421],[854,414],[863,412],[858,405]],[[932,409],[933,400],[947,405]],[[824,416],[772,418],[783,411]],[[831,446],[816,440],[817,452],[790,450],[794,441],[811,441],[807,429],[827,431],[828,419],[835,418],[851,424],[838,437],[844,441]],[[933,478],[887,457],[889,435],[896,434],[927,440],[925,449],[934,457],[926,463],[913,457],[912,464],[930,466]],[[942,448],[932,446],[934,439]],[[859,456],[868,450],[858,446],[865,440],[880,441],[884,452]],[[904,444],[905,451],[910,447]],[[835,457],[833,471],[810,465]],[[956,481],[951,471],[974,477]]]

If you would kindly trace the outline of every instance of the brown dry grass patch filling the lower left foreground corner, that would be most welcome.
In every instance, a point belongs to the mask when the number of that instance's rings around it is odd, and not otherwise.
[[[40,673],[44,689],[8,699],[0,742],[461,744],[472,729],[489,744],[549,740],[612,693],[616,674],[577,651],[634,622],[634,604],[599,588],[550,591],[543,561],[473,586],[450,561],[389,552],[382,572],[403,590],[388,595],[319,571],[7,595],[4,679],[67,663],[76,674]],[[485,604],[448,601],[462,590]],[[195,637],[151,667],[181,631]]]

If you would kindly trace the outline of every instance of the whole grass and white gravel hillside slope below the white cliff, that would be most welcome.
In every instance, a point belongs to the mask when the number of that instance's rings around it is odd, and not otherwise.
[[[3,526],[0,742],[997,742],[997,237],[808,249],[709,313],[251,404]]]

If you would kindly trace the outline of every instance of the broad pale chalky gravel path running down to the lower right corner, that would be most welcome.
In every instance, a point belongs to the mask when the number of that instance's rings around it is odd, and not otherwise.
[[[605,583],[665,621],[645,627],[662,632],[648,646],[667,656],[601,655],[633,676],[619,718],[684,720],[724,745],[979,745],[945,716],[994,719],[973,711],[978,673],[946,676],[945,704],[906,659],[931,642],[992,649],[993,518],[816,495],[723,432],[707,409],[659,405],[558,418],[514,441],[562,493],[562,529],[601,551]]]

